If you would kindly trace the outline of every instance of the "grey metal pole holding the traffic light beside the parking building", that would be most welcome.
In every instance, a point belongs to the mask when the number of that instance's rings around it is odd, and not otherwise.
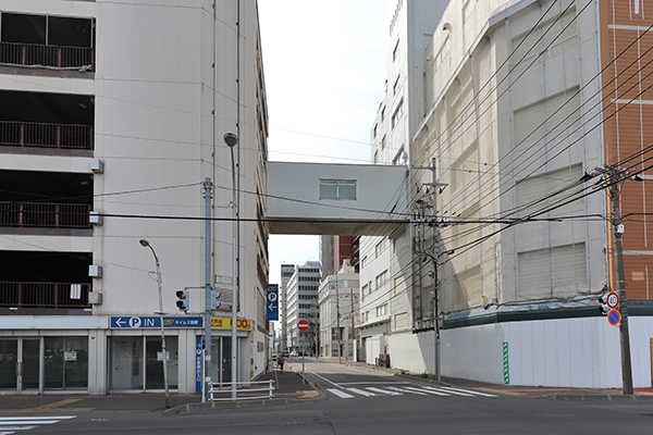
[[[211,189],[213,183],[207,177],[205,191],[205,394],[202,402],[210,400],[211,390]]]

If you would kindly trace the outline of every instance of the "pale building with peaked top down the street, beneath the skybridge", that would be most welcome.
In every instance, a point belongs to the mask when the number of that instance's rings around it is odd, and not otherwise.
[[[358,273],[344,260],[336,273],[320,283],[320,356],[348,358],[356,356],[356,325],[359,322]]]

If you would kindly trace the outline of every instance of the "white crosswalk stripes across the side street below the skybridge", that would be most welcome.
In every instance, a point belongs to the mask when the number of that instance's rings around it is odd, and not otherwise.
[[[454,388],[454,387],[433,387],[429,385],[424,386],[379,386],[379,387],[341,387],[341,388],[326,388],[326,390],[334,396],[342,399],[352,399],[356,396],[364,397],[381,397],[381,396],[402,396],[402,395],[418,395],[418,396],[440,396],[440,397],[497,397],[496,395],[489,393],[476,391],[472,389]]]

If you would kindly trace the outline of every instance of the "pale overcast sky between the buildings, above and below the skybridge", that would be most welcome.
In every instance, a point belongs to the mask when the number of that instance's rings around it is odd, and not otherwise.
[[[383,0],[258,0],[269,160],[369,163],[386,77]],[[280,265],[319,260],[317,236],[270,236]]]

